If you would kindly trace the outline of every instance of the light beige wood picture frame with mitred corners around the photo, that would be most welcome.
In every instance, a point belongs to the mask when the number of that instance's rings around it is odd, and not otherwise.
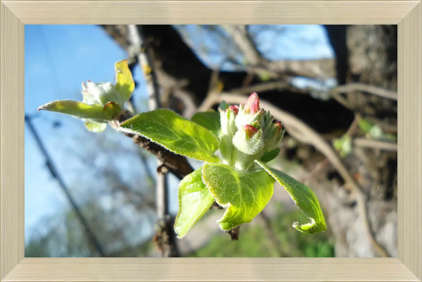
[[[421,281],[420,0],[0,2],[0,281]],[[24,258],[25,24],[398,24],[398,258]]]

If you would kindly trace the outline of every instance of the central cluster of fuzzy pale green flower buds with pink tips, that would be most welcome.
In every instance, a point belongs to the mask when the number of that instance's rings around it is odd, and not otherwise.
[[[275,149],[286,131],[269,111],[260,108],[260,99],[252,93],[246,104],[219,109],[222,129],[220,152],[223,161],[238,170],[252,167],[255,159]]]

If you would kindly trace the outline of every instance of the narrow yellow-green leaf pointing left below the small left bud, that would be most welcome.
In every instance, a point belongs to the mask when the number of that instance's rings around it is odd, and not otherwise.
[[[42,105],[38,110],[48,110],[51,112],[72,115],[76,118],[87,118],[95,121],[109,121],[111,116],[104,112],[104,107],[98,104],[85,104],[72,100],[57,100]]]

